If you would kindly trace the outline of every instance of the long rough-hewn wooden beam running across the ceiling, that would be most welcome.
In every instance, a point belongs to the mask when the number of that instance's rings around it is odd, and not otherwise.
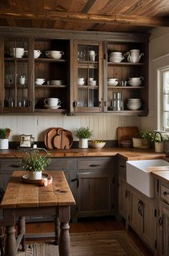
[[[69,12],[19,12],[0,9],[0,17],[29,20],[62,20],[67,22],[94,22],[106,24],[126,23],[148,27],[169,27],[169,19],[162,17],[140,17],[137,15],[101,15]]]

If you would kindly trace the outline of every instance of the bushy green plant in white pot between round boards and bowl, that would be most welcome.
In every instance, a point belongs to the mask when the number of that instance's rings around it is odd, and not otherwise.
[[[89,127],[81,127],[76,129],[75,136],[78,137],[78,148],[88,148],[88,139],[93,135],[93,131]]]

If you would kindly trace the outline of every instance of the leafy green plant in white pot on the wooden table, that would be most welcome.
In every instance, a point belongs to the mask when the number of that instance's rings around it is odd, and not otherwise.
[[[45,151],[40,153],[40,151]],[[24,157],[19,161],[24,170],[29,171],[29,179],[42,179],[42,171],[46,166],[50,165],[49,153],[45,148],[33,148],[29,152],[24,153]]]

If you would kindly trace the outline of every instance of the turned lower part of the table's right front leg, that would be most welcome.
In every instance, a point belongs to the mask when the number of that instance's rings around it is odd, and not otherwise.
[[[70,236],[69,224],[60,222],[60,236],[59,236],[59,255],[69,256]]]

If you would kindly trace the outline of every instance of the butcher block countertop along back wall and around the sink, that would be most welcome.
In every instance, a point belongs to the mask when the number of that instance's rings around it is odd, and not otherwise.
[[[27,149],[24,149],[26,151]],[[155,153],[154,150],[142,150],[137,148],[70,148],[68,150],[47,150],[52,157],[90,157],[90,156],[114,156],[119,155],[124,160],[146,160],[146,159],[159,159],[163,158],[165,161],[169,161],[169,158],[165,157],[164,153]],[[22,158],[23,150],[0,150],[0,158]],[[163,182],[169,184],[169,171],[152,171],[152,175],[155,179],[161,179]]]

